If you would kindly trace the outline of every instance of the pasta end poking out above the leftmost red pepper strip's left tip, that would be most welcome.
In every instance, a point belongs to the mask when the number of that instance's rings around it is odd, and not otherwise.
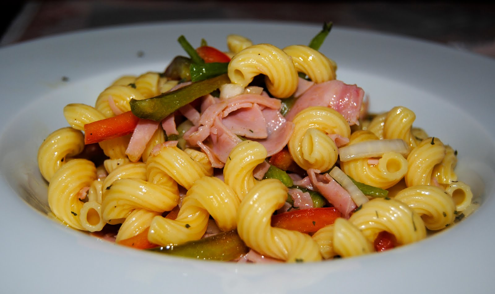
[[[79,131],[84,131],[85,124],[105,118],[95,107],[83,103],[65,105],[63,115],[69,125]]]

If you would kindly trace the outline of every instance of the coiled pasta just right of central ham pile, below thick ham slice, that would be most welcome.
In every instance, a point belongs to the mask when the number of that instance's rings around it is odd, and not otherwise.
[[[312,106],[300,111],[293,123],[294,133],[288,147],[297,165],[305,170],[329,170],[339,152],[328,135],[350,136],[349,123],[344,116],[330,107]]]

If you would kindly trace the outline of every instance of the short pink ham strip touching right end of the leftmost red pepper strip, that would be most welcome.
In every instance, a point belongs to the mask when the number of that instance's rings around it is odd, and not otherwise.
[[[125,153],[132,162],[136,162],[141,158],[141,154],[143,154],[148,141],[157,129],[158,122],[150,119],[139,119],[139,122],[132,133],[129,145],[125,150]]]

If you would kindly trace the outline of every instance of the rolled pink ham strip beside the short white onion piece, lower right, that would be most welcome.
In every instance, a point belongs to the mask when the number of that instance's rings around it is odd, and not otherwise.
[[[328,202],[334,205],[340,212],[349,218],[350,212],[356,208],[356,204],[350,194],[342,188],[329,174],[320,174],[319,170],[308,169],[308,177],[318,192],[323,195]]]

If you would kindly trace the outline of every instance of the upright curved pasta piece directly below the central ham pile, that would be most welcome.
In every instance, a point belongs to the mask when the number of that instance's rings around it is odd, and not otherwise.
[[[234,147],[223,168],[223,177],[239,197],[244,199],[247,192],[254,186],[254,168],[266,158],[266,148],[261,143],[246,140]]]

